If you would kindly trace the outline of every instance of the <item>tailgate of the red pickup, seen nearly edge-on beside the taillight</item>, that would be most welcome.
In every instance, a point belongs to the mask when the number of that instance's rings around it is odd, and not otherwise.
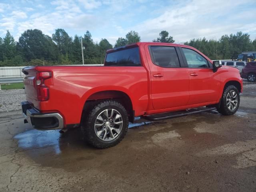
[[[24,75],[24,86],[26,93],[26,100],[29,103],[32,103],[35,108],[39,108],[39,102],[37,99],[36,91],[36,67],[26,67],[22,69]]]

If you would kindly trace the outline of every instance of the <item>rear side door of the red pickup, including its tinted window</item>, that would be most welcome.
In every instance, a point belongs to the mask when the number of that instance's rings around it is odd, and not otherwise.
[[[189,99],[188,68],[175,46],[145,45],[150,68],[151,98],[155,110],[186,106]]]

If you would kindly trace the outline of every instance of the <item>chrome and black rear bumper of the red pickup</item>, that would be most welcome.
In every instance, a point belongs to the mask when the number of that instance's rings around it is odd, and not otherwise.
[[[38,130],[53,130],[64,128],[63,117],[59,113],[40,113],[27,101],[21,102],[24,122],[30,123]]]

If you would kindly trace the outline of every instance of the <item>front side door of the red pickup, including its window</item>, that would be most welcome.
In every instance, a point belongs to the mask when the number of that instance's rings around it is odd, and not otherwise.
[[[180,48],[184,63],[188,66],[188,105],[216,102],[220,92],[220,77],[214,73],[212,64],[196,50]]]

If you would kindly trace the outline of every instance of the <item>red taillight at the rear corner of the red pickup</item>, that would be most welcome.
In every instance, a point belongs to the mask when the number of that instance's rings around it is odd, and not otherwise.
[[[38,101],[49,99],[49,88],[44,84],[44,80],[52,77],[52,72],[44,71],[36,73],[36,90]]]

